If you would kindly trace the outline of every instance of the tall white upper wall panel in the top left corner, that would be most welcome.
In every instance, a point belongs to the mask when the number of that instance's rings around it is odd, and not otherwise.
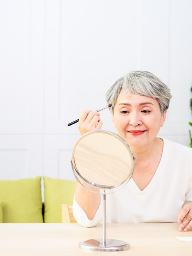
[[[43,1],[0,1],[0,132],[42,132]]]

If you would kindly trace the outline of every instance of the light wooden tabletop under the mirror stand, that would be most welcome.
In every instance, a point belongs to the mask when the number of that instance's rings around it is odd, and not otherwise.
[[[179,232],[177,223],[107,224],[107,239],[123,240],[130,249],[96,252],[79,248],[79,242],[103,238],[103,226],[78,224],[0,224],[1,256],[192,256],[192,242],[176,237],[192,237],[192,231]]]

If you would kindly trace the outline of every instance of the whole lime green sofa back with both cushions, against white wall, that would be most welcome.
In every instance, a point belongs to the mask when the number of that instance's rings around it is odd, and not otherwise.
[[[76,185],[46,176],[0,180],[0,223],[61,223],[61,204],[73,203]]]

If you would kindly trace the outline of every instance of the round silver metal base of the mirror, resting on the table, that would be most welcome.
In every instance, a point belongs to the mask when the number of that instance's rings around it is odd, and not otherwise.
[[[103,245],[103,239],[89,239],[79,243],[79,247],[91,251],[117,252],[130,249],[129,243],[121,240],[106,239],[106,245]]]

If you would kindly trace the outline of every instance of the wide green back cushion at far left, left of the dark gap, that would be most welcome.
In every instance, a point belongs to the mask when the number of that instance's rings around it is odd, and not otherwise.
[[[3,223],[43,223],[41,176],[0,180]]]

